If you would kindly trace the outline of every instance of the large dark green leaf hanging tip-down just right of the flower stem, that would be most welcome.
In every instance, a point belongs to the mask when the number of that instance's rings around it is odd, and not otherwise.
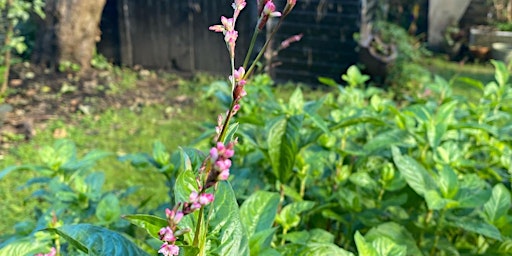
[[[269,127],[268,154],[272,171],[281,183],[288,183],[292,176],[295,157],[299,151],[300,134],[304,116],[278,117]]]

